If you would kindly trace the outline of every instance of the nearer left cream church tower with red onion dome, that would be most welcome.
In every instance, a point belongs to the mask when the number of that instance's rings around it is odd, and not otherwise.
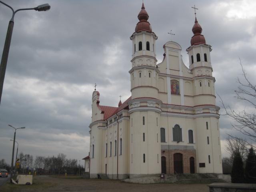
[[[161,147],[158,120],[158,73],[155,43],[157,36],[148,22],[144,4],[132,40],[130,114],[130,176],[161,173]]]

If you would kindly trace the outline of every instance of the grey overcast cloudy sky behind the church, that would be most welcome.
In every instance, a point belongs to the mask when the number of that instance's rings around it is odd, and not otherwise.
[[[48,12],[17,12],[0,106],[0,159],[11,162],[14,129],[19,151],[36,156],[64,153],[81,160],[89,151],[89,124],[94,83],[100,104],[117,106],[130,96],[132,43],[141,0],[3,0],[15,10],[49,3]],[[158,36],[156,54],[173,41],[190,46],[194,9],[206,43],[212,46],[215,89],[226,104],[244,108],[234,98],[241,77],[238,57],[256,82],[255,0],[144,0],[152,30]],[[0,4],[0,54],[6,38],[10,8]],[[216,105],[221,106],[219,98]],[[255,110],[255,109],[254,109]],[[227,134],[237,134],[231,120],[220,118],[222,156]],[[244,137],[244,136],[241,136]],[[15,149],[16,150],[16,149]]]

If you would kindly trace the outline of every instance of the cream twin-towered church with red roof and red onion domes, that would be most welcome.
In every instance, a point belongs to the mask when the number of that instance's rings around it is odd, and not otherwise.
[[[189,68],[173,41],[164,44],[164,58],[156,64],[158,37],[148,18],[142,4],[130,36],[130,98],[102,106],[100,92],[92,93],[90,178],[222,173],[212,48],[195,18],[186,49]]]

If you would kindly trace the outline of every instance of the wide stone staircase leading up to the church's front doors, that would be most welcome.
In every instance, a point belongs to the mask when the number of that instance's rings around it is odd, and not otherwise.
[[[217,178],[214,174],[178,174],[174,183],[178,184],[195,184],[195,183],[226,183],[225,180]]]

